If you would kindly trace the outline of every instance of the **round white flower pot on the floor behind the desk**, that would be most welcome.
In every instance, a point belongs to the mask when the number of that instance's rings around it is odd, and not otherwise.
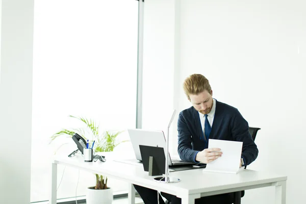
[[[86,204],[111,204],[113,201],[113,191],[108,189],[94,189],[94,187],[87,188]]]

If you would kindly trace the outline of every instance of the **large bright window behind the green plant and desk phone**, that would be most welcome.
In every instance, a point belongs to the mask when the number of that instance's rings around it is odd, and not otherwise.
[[[137,26],[137,1],[35,1],[31,202],[49,198],[54,153],[76,149],[70,138],[49,144],[62,128],[80,126],[68,115],[92,118],[101,130],[136,127]],[[129,142],[118,148],[132,150]],[[63,171],[59,165],[58,185]],[[65,168],[58,198],[75,196],[78,175]],[[78,196],[94,178],[80,171]],[[108,184],[114,192],[127,190],[123,182]]]

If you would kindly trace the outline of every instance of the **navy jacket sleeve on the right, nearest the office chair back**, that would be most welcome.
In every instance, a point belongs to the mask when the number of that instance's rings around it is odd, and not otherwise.
[[[247,121],[236,109],[236,113],[231,121],[231,133],[235,141],[243,142],[242,155],[245,165],[252,163],[258,156],[258,148],[248,132],[249,126]]]

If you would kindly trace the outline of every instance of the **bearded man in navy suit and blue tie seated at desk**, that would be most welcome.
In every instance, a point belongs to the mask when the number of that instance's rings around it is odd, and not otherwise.
[[[184,92],[192,107],[182,111],[177,121],[178,151],[182,160],[210,163],[222,157],[219,148],[208,148],[208,139],[243,142],[240,166],[249,165],[258,156],[247,121],[239,111],[213,98],[209,81],[201,74],[192,74],[184,81]],[[157,191],[135,186],[144,203],[157,203]],[[162,193],[171,204],[181,203],[181,198]],[[230,204],[234,193],[201,197],[195,203]],[[160,203],[163,200],[160,199]]]

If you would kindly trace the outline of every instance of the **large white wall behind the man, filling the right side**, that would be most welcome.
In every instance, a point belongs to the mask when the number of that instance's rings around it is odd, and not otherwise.
[[[261,127],[259,157],[249,169],[288,175],[287,202],[304,203],[306,2],[181,1],[176,75],[180,111],[190,106],[182,83],[201,73],[214,97]],[[246,191],[242,203],[273,203],[274,189]]]

